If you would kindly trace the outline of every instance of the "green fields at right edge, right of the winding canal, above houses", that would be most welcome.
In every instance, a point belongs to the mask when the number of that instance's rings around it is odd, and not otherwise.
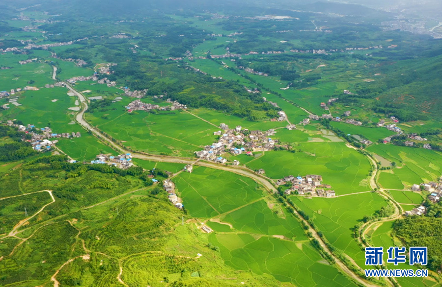
[[[367,150],[396,162],[393,173],[408,187],[434,181],[442,174],[442,154],[438,151],[393,144],[375,144]]]

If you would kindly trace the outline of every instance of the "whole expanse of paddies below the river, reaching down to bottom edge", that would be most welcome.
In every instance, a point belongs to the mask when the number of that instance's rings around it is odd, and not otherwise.
[[[354,286],[318,254],[298,220],[262,197],[266,192],[256,191],[251,179],[196,167],[174,181],[190,215],[222,222],[207,224],[215,230],[209,241],[227,265],[299,286]]]

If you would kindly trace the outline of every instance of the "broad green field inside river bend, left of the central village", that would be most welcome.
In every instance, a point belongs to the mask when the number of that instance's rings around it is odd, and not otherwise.
[[[193,156],[202,146],[214,142],[213,132],[218,130],[186,112],[129,114],[119,102],[112,104],[110,110],[86,117],[124,145],[155,154]]]

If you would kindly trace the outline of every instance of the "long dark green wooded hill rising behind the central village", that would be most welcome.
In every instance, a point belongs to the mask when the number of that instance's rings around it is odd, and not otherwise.
[[[152,69],[144,71],[142,62],[130,61],[115,66],[113,71],[131,89],[148,89],[149,96],[166,94],[188,107],[215,109],[252,121],[276,117],[277,108],[264,102],[259,94],[248,93],[238,82],[195,74],[182,64],[178,68],[176,63],[161,60],[158,65],[151,62]]]

